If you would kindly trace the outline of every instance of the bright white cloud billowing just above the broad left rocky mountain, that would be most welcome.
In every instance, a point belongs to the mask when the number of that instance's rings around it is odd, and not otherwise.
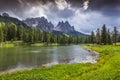
[[[47,5],[36,5],[36,6],[31,6],[27,8],[24,11],[25,17],[45,17],[48,18],[48,13],[50,14],[50,8],[53,4],[48,3]]]

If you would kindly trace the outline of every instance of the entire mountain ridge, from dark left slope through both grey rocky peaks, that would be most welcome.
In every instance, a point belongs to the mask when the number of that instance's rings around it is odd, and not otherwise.
[[[17,26],[23,25],[25,28],[33,27],[42,30],[43,32],[50,32],[55,35],[72,35],[72,36],[87,36],[84,33],[78,32],[74,29],[74,26],[71,26],[68,21],[58,22],[55,27],[52,22],[48,21],[44,17],[37,18],[27,18],[26,20],[19,20],[17,18],[9,16],[7,13],[0,15],[0,22],[5,23],[14,23]]]

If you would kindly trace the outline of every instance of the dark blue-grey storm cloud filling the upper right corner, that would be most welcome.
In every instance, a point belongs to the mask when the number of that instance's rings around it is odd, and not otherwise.
[[[99,11],[106,16],[118,16],[120,0],[89,0],[89,9]]]

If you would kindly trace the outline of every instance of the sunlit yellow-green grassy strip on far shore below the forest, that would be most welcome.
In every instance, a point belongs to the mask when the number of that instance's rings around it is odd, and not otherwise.
[[[0,48],[14,48],[14,47],[46,47],[46,46],[66,46],[66,45],[80,45],[80,44],[59,44],[59,43],[24,43],[21,41],[6,41],[2,42]]]

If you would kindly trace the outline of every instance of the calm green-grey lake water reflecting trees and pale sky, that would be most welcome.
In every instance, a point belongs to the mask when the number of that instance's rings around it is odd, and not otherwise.
[[[80,45],[0,48],[0,72],[60,63],[94,63],[97,58]]]

